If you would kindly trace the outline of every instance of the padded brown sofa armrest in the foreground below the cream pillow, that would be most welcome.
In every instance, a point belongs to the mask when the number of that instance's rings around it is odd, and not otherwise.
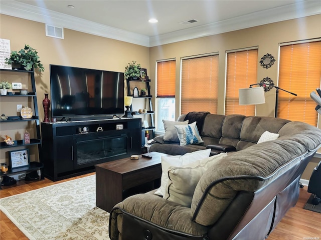
[[[205,235],[208,231],[206,226],[192,221],[191,208],[152,193],[136,194],[117,203],[110,212],[109,226],[113,228],[110,229],[111,234],[115,234],[117,228],[119,230],[125,227],[117,226],[117,224],[122,224],[116,222],[119,218],[116,215],[119,214],[135,216],[141,221],[156,224],[169,231],[179,231],[196,236]]]

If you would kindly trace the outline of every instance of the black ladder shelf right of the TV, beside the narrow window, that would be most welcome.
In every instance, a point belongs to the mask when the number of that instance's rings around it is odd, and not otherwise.
[[[152,95],[150,94],[150,79],[147,77],[147,79],[144,80],[145,85],[146,85],[146,95],[142,96],[139,93],[139,96],[134,96],[133,92],[131,92],[130,88],[130,82],[141,82],[141,80],[138,79],[132,79],[132,78],[127,78],[127,95],[128,96],[133,96],[133,98],[146,98],[148,99],[148,108],[146,113],[139,113],[138,111],[133,111],[132,110],[132,104],[130,105],[130,110],[132,111],[132,115],[149,115],[149,123],[148,127],[141,127],[141,145],[145,145],[145,131],[148,130],[149,132],[149,138],[154,137],[154,130],[155,130],[155,125],[154,125],[154,111],[152,110]],[[147,142],[146,142],[147,143]]]

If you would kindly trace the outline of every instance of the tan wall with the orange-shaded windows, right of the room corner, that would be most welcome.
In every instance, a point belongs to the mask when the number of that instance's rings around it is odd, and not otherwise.
[[[156,61],[176,58],[176,118],[180,115],[180,65],[181,58],[211,52],[219,52],[219,93],[218,114],[224,114],[225,94],[225,61],[226,51],[252,46],[258,46],[259,59],[266,54],[272,54],[276,61],[272,67],[266,69],[257,64],[257,82],[264,77],[270,77],[277,85],[279,43],[321,37],[321,14],[302,17],[293,20],[275,22],[242,30],[226,32],[191,40],[185,40],[162,46],[150,47],[150,75],[155,75]],[[196,82],[195,85],[202,84]],[[239,88],[248,86],[239,86]],[[319,87],[319,86],[315,86]],[[155,85],[151,82],[151,88],[155,91]],[[155,95],[155,93],[153,93]],[[154,99],[153,99],[154,100]],[[275,88],[265,93],[265,104],[258,104],[256,115],[274,116]],[[155,107],[156,104],[153,104]],[[154,107],[154,108],[155,108]],[[197,109],[195,109],[197,110]],[[321,123],[319,120],[319,127]],[[313,167],[319,162],[314,157],[304,171],[302,178],[309,179]]]

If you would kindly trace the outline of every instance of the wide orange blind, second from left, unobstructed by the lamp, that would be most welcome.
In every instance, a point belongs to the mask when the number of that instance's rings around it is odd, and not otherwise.
[[[219,55],[182,60],[181,114],[217,113]]]

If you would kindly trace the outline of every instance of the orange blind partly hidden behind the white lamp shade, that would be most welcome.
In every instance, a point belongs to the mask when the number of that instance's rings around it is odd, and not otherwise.
[[[258,49],[227,53],[225,115],[255,115],[255,105],[239,105],[239,88],[257,83]]]

